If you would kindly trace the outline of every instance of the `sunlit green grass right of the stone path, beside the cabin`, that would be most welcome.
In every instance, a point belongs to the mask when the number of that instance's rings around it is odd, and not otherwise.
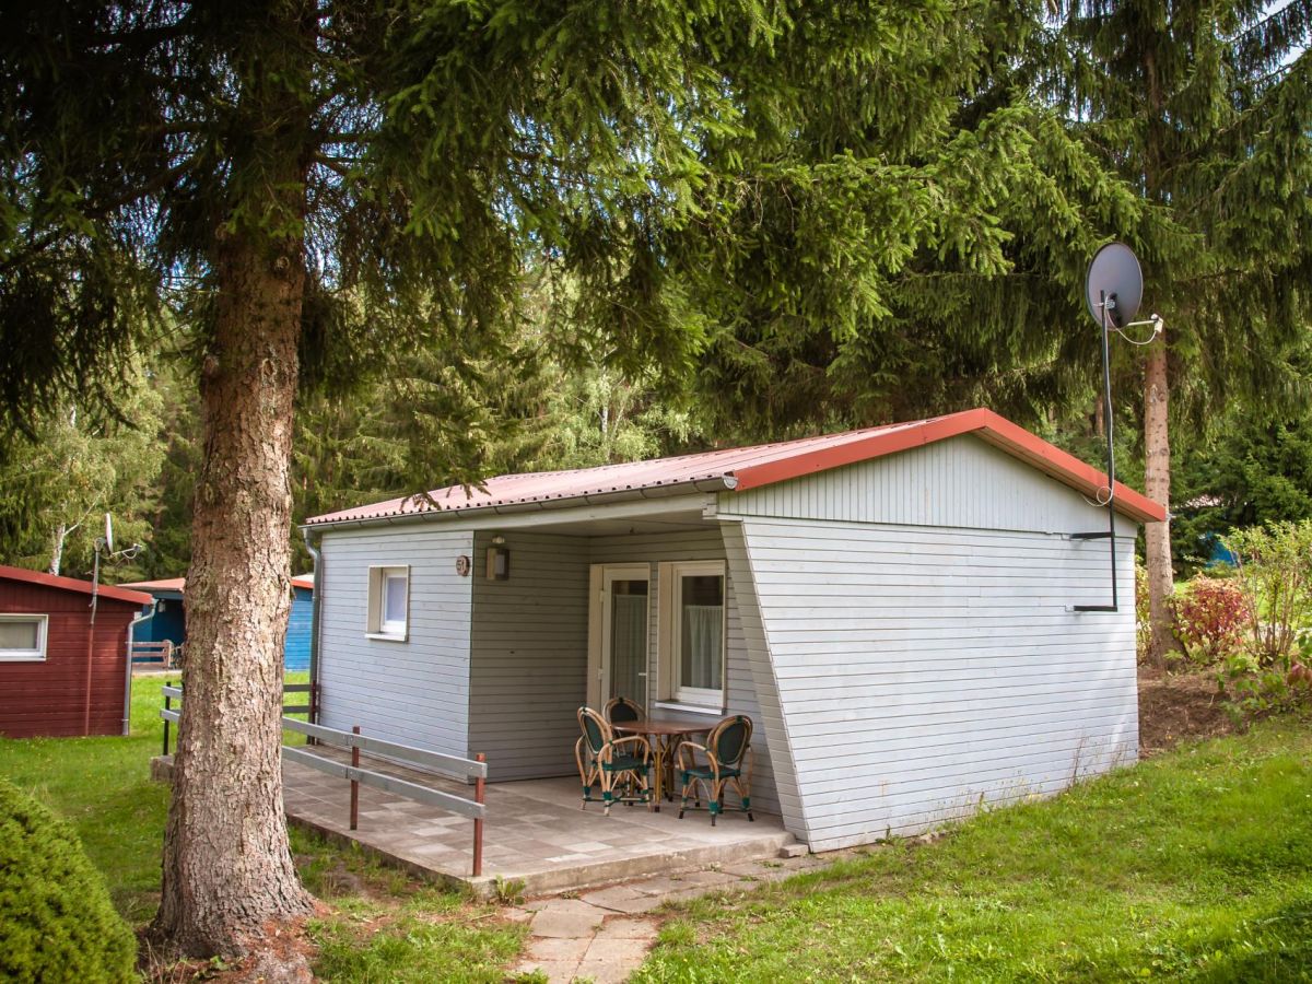
[[[1312,727],[1187,747],[666,924],[634,980],[1312,980]]]

